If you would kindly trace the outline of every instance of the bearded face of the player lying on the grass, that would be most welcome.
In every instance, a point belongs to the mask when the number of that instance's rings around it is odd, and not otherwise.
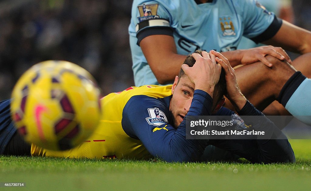
[[[176,76],[172,87],[172,99],[169,104],[169,110],[172,113],[175,128],[183,121],[183,118],[189,111],[194,93],[194,84],[185,75],[179,79]]]

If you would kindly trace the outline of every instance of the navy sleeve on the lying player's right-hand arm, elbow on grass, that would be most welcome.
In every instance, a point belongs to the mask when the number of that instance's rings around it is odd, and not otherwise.
[[[230,140],[230,147],[242,148],[238,155],[245,157],[251,162],[295,162],[295,154],[287,140],[286,135],[275,126],[275,124],[256,109],[253,104],[246,102],[244,107],[238,111],[245,124],[252,124],[251,128],[256,131],[265,131],[272,135],[271,139],[255,140]],[[263,116],[259,118],[249,116]],[[217,144],[216,144],[217,145]],[[217,145],[219,146],[219,145]]]

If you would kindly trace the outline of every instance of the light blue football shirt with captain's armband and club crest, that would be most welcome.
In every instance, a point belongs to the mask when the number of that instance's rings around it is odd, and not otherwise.
[[[267,40],[281,23],[255,0],[134,0],[128,30],[135,85],[159,85],[139,46],[146,36],[173,36],[181,55],[195,50],[222,52],[236,50],[242,36],[256,42]]]

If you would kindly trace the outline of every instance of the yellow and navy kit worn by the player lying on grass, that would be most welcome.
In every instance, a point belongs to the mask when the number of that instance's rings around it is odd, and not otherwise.
[[[169,104],[172,97],[170,86],[131,87],[119,93],[111,93],[101,100],[103,114],[94,134],[80,146],[67,151],[49,151],[31,145],[32,156],[66,158],[132,158],[160,157],[165,161],[198,161],[207,145],[225,149],[251,162],[294,162],[295,155],[286,136],[267,118],[260,124],[263,131],[276,132],[278,139],[271,140],[196,140],[186,139],[186,121],[190,116],[210,116],[212,98],[207,92],[195,90],[191,107],[183,122],[175,129],[171,124]],[[15,154],[21,149],[19,138],[12,133],[8,110],[10,101],[0,103],[1,154]],[[221,108],[216,115],[233,115]],[[247,102],[240,115],[263,115]],[[6,126],[5,126],[6,124]],[[17,136],[17,134],[15,134]],[[5,141],[4,141],[5,140]],[[9,149],[8,149],[9,148]],[[13,148],[11,151],[10,148]],[[24,150],[28,148],[25,147]],[[29,149],[30,153],[30,149]]]

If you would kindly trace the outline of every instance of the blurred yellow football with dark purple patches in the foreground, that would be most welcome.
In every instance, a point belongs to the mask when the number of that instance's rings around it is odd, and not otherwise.
[[[83,143],[100,119],[100,90],[77,64],[48,60],[35,64],[12,91],[11,115],[28,143],[67,150]]]

